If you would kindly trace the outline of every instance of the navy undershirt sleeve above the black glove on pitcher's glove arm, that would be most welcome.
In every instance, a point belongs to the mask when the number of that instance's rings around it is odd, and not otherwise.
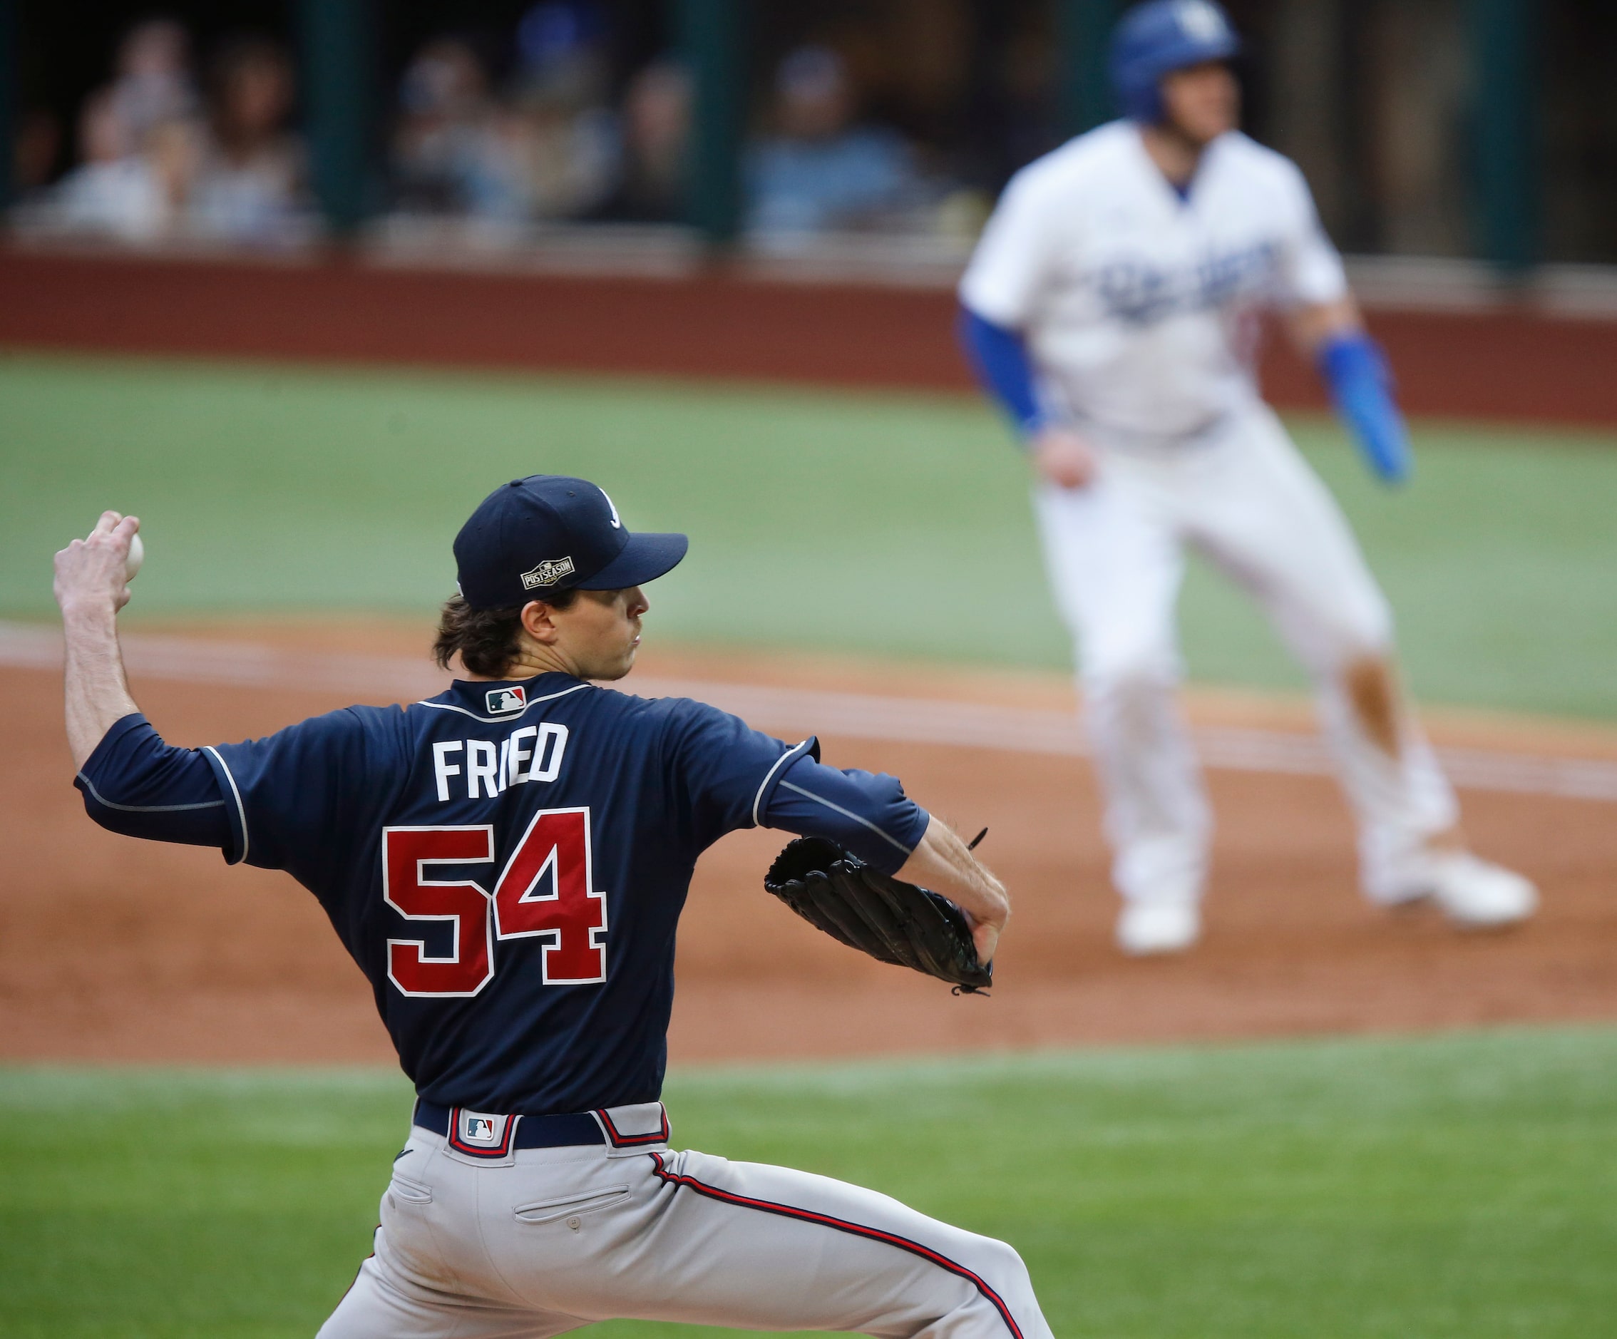
[[[883,873],[897,873],[931,822],[896,776],[839,771],[810,752],[792,758],[760,815],[765,828],[821,836]]]

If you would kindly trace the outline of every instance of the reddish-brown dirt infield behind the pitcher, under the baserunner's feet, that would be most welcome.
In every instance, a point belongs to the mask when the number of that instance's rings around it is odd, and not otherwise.
[[[264,629],[255,634],[262,640]],[[277,640],[419,650],[414,631],[393,627],[315,624],[280,629]],[[653,652],[642,673],[938,700],[1067,699],[1045,676],[716,653]],[[348,700],[139,674],[134,691],[183,744],[267,733]],[[1211,695],[1197,699],[1193,715],[1277,731],[1305,720],[1295,703]],[[1433,733],[1439,742],[1617,760],[1612,733],[1460,718],[1439,720]],[[0,899],[0,1056],[390,1059],[369,988],[286,876],[115,838],[84,818],[68,784],[53,670],[0,670],[0,737],[11,754],[0,822],[13,852]],[[985,855],[1015,894],[1001,985],[990,999],[951,998],[815,935],[758,888],[781,836],[737,833],[703,857],[682,925],[676,1061],[1617,1017],[1611,800],[1465,792],[1478,847],[1539,880],[1544,912],[1515,933],[1462,936],[1433,914],[1386,915],[1358,899],[1350,830],[1329,781],[1214,770],[1221,826],[1208,938],[1180,961],[1130,962],[1109,943],[1114,907],[1080,758],[831,733],[823,744],[838,765],[899,773],[959,826],[990,825]]]

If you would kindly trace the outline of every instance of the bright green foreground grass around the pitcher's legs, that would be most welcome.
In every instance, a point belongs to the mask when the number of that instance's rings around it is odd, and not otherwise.
[[[0,1333],[312,1334],[407,1101],[382,1072],[0,1071]],[[1588,1339],[1617,1315],[1611,1030],[687,1071],[668,1103],[679,1145],[1014,1242],[1059,1336]]]

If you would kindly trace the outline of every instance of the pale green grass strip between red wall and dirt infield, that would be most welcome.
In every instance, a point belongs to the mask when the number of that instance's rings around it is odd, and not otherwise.
[[[1376,488],[1297,419],[1400,616],[1429,700],[1617,718],[1617,435],[1418,425],[1420,477]],[[498,480],[600,480],[639,529],[694,539],[652,636],[1066,665],[1024,466],[975,399],[606,377],[0,356],[0,616],[47,618],[50,553],[137,511],[131,618],[425,615]],[[1197,571],[1192,673],[1300,679]]]

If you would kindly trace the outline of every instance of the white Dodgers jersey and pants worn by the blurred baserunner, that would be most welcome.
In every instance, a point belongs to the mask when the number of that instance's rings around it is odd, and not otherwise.
[[[1024,333],[1041,406],[1100,453],[1090,487],[1041,487],[1035,509],[1129,899],[1198,899],[1206,876],[1208,805],[1172,695],[1187,543],[1313,674],[1365,891],[1395,899],[1425,839],[1455,822],[1413,723],[1394,758],[1352,710],[1342,673],[1391,652],[1391,613],[1255,378],[1261,309],[1345,293],[1295,165],[1229,133],[1180,194],[1129,121],[1017,173],[960,283],[970,310]]]

